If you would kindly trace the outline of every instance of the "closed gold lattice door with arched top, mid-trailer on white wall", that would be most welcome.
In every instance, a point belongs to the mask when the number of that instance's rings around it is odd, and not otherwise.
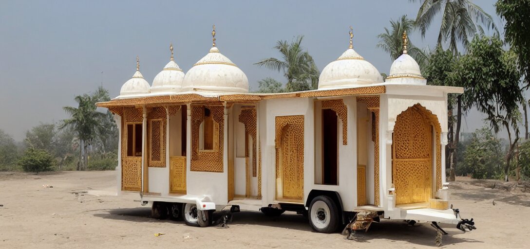
[[[280,177],[282,197],[304,197],[304,115],[276,117],[276,178]]]

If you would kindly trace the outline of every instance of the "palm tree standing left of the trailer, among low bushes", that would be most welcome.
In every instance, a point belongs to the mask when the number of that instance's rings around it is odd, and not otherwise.
[[[102,131],[100,127],[102,120],[106,117],[104,113],[100,113],[96,110],[95,103],[100,100],[100,95],[96,92],[94,95],[78,95],[75,98],[78,103],[78,107],[65,106],[63,109],[71,117],[64,119],[59,125],[59,130],[65,127],[72,128],[80,140],[80,151],[79,151],[79,170],[86,168],[88,159],[88,147]],[[84,160],[82,157],[84,155]]]

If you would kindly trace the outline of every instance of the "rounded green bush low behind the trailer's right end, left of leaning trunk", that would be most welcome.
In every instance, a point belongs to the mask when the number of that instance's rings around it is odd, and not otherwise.
[[[491,179],[502,174],[502,146],[500,140],[487,127],[473,133],[471,143],[464,153],[463,168],[472,178]]]

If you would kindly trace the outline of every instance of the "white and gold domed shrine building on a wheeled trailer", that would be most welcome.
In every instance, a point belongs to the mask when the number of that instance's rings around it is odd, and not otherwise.
[[[108,108],[119,127],[118,188],[153,217],[215,222],[214,211],[296,211],[318,232],[368,229],[380,219],[457,224],[445,176],[447,94],[403,54],[383,81],[353,47],[316,90],[249,93],[245,73],[215,43],[184,73],[171,59],[153,84],[137,59]],[[216,213],[217,214],[217,213]]]

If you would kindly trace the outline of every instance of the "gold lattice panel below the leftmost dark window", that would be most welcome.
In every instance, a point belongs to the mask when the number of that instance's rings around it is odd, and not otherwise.
[[[122,156],[121,189],[140,191],[142,189],[142,158],[139,156]]]

